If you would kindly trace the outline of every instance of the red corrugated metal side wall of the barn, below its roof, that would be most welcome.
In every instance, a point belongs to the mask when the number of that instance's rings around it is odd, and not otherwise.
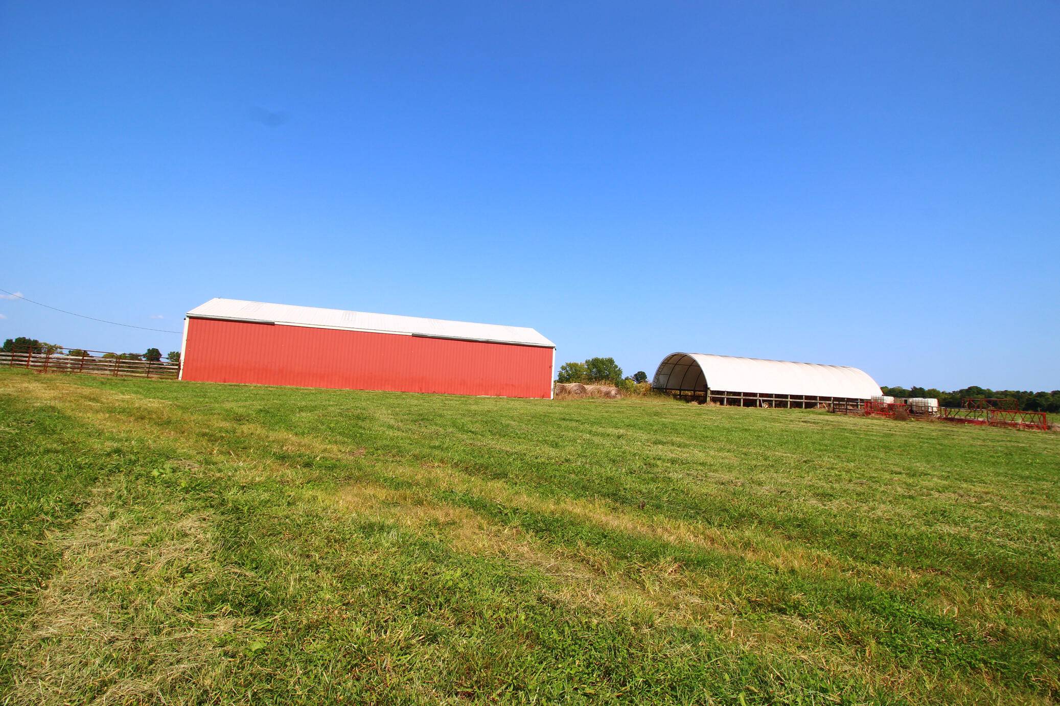
[[[552,349],[192,318],[182,378],[549,398]]]

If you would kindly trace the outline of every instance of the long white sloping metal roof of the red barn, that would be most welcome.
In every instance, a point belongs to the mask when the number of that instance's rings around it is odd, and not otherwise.
[[[393,314],[366,314],[365,312],[346,312],[340,308],[268,304],[241,299],[211,299],[188,312],[188,316],[555,348],[552,341],[533,329],[523,326],[421,319],[414,316]]]

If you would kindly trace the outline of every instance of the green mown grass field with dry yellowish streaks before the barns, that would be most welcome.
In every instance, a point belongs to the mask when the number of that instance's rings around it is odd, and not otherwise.
[[[0,704],[1060,699],[1060,435],[0,370]]]

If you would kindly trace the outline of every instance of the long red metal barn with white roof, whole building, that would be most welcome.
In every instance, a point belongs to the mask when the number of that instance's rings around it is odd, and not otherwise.
[[[211,299],[188,312],[180,378],[351,390],[552,396],[533,329]]]

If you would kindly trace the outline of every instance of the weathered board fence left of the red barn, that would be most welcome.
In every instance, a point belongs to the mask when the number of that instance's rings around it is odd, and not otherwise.
[[[121,355],[111,351],[88,351],[76,348],[29,349],[0,352],[0,366],[26,368],[41,373],[81,373],[114,377],[176,380],[180,375],[179,363],[136,360],[123,358]]]

